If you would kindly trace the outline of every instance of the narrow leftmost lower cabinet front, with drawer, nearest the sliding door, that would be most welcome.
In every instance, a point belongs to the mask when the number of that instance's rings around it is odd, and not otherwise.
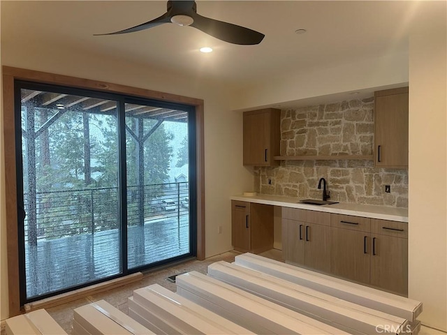
[[[232,201],[231,242],[237,251],[249,251],[250,241],[250,207],[248,203]]]

